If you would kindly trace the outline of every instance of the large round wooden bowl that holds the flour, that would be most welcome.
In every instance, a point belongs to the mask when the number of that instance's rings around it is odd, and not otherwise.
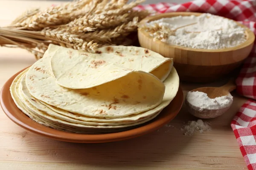
[[[201,14],[196,12],[170,12],[147,17],[140,24],[164,17],[176,17],[179,15],[199,16]],[[141,47],[155,51],[164,57],[173,58],[174,66],[181,80],[188,82],[211,82],[239,67],[253,48],[255,35],[246,26],[240,23],[237,24],[246,29],[247,40],[231,48],[209,50],[169,45],[162,41],[153,41],[153,37],[143,29],[139,29],[138,38]]]

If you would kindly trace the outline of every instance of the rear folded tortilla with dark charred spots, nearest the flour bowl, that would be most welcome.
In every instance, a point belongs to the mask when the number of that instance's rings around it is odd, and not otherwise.
[[[173,59],[142,47],[133,46],[106,46],[99,48],[95,59],[104,59],[116,65],[141,70],[153,74],[162,82],[170,74],[173,67]]]

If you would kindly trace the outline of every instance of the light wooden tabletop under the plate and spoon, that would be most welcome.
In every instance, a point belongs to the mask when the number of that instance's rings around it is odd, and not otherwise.
[[[10,23],[26,8],[51,4],[49,1],[0,0],[0,26]],[[0,47],[0,88],[9,77],[33,62],[35,58],[26,50]],[[186,95],[199,85],[182,84],[182,87]],[[212,131],[184,136],[180,131],[183,122],[196,118],[183,105],[170,127],[136,139],[106,144],[76,144],[41,137],[17,126],[0,109],[0,170],[247,169],[230,127],[230,121],[246,99],[233,95],[232,108],[209,120]]]

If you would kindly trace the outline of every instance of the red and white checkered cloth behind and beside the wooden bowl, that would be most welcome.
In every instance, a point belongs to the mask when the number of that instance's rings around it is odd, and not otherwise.
[[[140,5],[136,10],[157,13],[174,11],[204,12],[239,21],[256,34],[256,0],[194,0],[183,4],[157,3]],[[256,170],[256,42],[236,79],[237,93],[251,98],[231,122],[244,161],[249,170]]]

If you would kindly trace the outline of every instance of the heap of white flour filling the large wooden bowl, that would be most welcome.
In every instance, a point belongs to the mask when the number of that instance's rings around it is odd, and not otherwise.
[[[220,49],[239,45],[246,40],[244,28],[238,26],[233,20],[212,14],[201,14],[198,17],[192,15],[162,18],[149,22],[147,25],[153,26],[155,23],[175,31],[169,37],[161,39],[172,45]],[[151,36],[154,37],[154,34]]]

